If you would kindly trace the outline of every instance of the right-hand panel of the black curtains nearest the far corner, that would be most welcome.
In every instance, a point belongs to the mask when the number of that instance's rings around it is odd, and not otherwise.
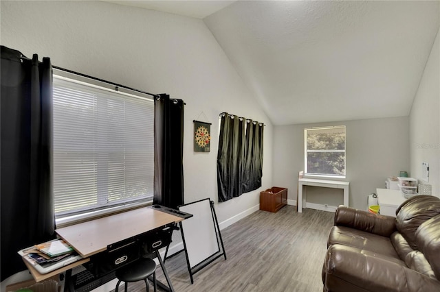
[[[261,186],[263,176],[263,130],[264,125],[248,120],[246,126],[246,147],[243,161],[243,193]]]

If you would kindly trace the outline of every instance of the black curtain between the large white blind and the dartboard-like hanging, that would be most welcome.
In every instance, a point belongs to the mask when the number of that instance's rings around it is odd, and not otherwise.
[[[153,204],[184,204],[184,101],[169,95],[155,98]]]

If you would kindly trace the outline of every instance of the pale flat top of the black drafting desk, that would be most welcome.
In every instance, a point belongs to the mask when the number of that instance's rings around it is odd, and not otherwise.
[[[86,258],[107,250],[107,245],[182,220],[144,207],[56,229],[55,232]]]

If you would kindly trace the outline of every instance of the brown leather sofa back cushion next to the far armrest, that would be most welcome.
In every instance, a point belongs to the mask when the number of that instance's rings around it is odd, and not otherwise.
[[[401,204],[396,213],[397,231],[413,250],[418,250],[415,232],[421,223],[440,214],[440,199],[430,195],[416,195]]]

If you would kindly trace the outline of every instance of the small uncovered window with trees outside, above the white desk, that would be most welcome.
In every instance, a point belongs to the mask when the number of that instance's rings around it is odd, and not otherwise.
[[[305,173],[345,176],[345,126],[304,130]]]

